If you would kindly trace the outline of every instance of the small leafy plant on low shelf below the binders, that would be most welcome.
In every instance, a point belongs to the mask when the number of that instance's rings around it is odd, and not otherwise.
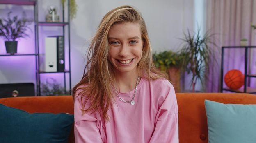
[[[54,78],[47,78],[46,83],[41,83],[41,94],[43,96],[66,95],[64,87]]]

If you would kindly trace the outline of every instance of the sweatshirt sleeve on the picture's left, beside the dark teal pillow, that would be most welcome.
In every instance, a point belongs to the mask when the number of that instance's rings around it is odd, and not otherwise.
[[[97,112],[93,114],[82,114],[81,109],[86,109],[89,105],[86,104],[84,108],[80,101],[78,98],[75,98],[74,101],[75,143],[103,143],[101,134],[104,133],[99,114]]]

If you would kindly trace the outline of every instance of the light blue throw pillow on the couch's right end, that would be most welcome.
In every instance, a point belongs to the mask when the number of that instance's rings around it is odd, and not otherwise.
[[[209,143],[256,143],[256,105],[205,100]]]

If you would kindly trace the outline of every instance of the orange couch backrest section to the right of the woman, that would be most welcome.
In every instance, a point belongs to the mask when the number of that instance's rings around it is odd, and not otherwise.
[[[180,143],[208,143],[204,100],[224,104],[256,104],[254,94],[177,93]]]

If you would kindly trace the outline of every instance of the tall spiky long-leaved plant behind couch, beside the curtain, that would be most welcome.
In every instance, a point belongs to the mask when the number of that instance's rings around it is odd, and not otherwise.
[[[209,63],[211,60],[211,55],[213,54],[213,49],[210,49],[209,44],[216,44],[211,42],[210,35],[207,31],[203,36],[200,35],[200,29],[193,35],[187,30],[184,33],[185,38],[180,38],[183,40],[183,48],[181,53],[184,55],[182,61],[182,70],[187,71],[188,74],[192,73],[191,85],[192,92],[195,92],[195,85],[199,81],[204,88],[204,79],[209,71]],[[213,59],[215,60],[215,59]],[[216,60],[215,60],[216,61]]]

